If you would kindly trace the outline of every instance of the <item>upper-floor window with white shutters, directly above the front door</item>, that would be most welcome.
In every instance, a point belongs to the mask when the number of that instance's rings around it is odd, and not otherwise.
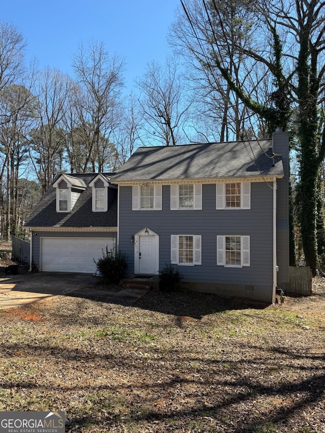
[[[161,185],[133,185],[133,211],[161,211]]]

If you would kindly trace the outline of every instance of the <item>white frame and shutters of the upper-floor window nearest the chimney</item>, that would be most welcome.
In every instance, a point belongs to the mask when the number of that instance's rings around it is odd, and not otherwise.
[[[227,186],[233,185],[234,194],[227,201],[226,189]],[[240,185],[240,194],[236,193],[236,188]],[[232,194],[230,194],[232,195]],[[240,206],[238,206],[238,197],[240,196]],[[227,202],[232,203],[227,206]],[[216,184],[216,209],[250,209],[250,182],[218,182]]]

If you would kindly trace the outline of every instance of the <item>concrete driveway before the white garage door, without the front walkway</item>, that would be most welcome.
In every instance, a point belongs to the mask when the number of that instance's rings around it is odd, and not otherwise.
[[[49,296],[65,295],[92,287],[98,278],[92,274],[39,272],[0,278],[0,310],[40,301]]]

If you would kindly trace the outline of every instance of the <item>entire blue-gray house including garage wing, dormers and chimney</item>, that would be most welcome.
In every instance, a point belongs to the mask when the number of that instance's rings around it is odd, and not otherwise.
[[[90,273],[118,246],[129,273],[171,262],[189,289],[274,302],[288,281],[288,173],[280,128],[272,140],[141,147],[116,174],[55,179],[25,224],[30,260]]]

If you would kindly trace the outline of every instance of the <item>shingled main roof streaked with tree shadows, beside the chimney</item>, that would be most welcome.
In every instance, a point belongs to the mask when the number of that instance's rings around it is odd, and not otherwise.
[[[272,140],[140,147],[112,182],[283,176]]]

